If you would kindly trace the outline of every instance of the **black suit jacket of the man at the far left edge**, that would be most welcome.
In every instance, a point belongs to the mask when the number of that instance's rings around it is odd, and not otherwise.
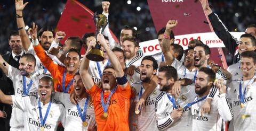
[[[12,57],[12,52],[9,54],[3,55],[4,60],[9,63],[9,65],[19,68],[19,62],[17,62],[13,57]],[[12,80],[7,77],[2,69],[0,69],[0,90],[3,91],[4,94],[7,95],[12,95],[14,94],[14,88],[13,88],[13,83]],[[10,130],[10,118],[11,118],[11,113],[12,113],[12,107],[7,104],[0,103],[0,110],[3,110],[6,112],[7,118],[0,118],[0,130]]]

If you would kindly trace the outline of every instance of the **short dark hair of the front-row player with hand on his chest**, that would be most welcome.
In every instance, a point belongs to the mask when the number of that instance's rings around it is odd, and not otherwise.
[[[165,72],[165,77],[167,80],[173,78],[174,81],[178,80],[177,70],[173,66],[162,66],[158,69],[158,72]]]

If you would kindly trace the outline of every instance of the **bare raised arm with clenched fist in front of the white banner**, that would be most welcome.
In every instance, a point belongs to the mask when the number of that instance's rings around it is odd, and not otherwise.
[[[167,65],[172,65],[172,62],[174,60],[174,54],[172,54],[171,50],[170,50],[170,34],[171,34],[171,31],[174,27],[176,27],[176,25],[178,24],[178,21],[177,20],[169,20],[166,24],[166,29],[165,29],[165,32],[164,32],[164,38],[163,38],[163,41],[162,41],[162,51],[163,51],[163,54],[164,54],[164,58],[165,58],[165,61],[166,61],[166,64]]]

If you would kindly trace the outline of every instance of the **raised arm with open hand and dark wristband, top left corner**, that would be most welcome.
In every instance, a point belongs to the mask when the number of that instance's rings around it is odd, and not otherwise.
[[[23,4],[23,0],[15,0],[17,26],[18,26],[18,30],[19,30],[19,34],[20,34],[20,39],[22,42],[22,47],[25,51],[28,51],[28,48],[31,44],[31,41],[30,41],[28,34],[25,30],[25,23],[24,23],[23,14],[22,14],[22,11],[27,4],[28,4],[28,2]]]

